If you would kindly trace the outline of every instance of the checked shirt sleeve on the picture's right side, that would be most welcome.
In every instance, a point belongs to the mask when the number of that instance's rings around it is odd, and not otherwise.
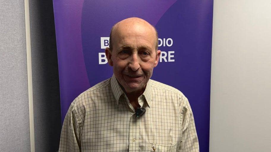
[[[182,141],[179,152],[199,152],[198,136],[196,132],[194,116],[187,98],[185,99],[187,106],[182,108]]]

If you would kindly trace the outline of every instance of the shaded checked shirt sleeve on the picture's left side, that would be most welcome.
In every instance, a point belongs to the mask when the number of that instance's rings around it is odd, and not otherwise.
[[[74,109],[74,102],[65,116],[59,143],[59,152],[80,152],[81,151],[81,121],[78,120]]]

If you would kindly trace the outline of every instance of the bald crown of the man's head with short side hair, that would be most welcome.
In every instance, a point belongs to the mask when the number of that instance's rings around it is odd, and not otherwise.
[[[131,31],[133,30],[140,30],[142,32],[146,32],[146,34],[151,34],[155,37],[155,51],[158,49],[158,34],[154,26],[152,26],[147,21],[138,18],[138,17],[131,17],[124,19],[118,23],[116,23],[112,28],[110,32],[109,37],[109,48],[112,51],[113,45],[114,45],[114,37],[116,35],[119,35],[122,33],[122,31]]]

